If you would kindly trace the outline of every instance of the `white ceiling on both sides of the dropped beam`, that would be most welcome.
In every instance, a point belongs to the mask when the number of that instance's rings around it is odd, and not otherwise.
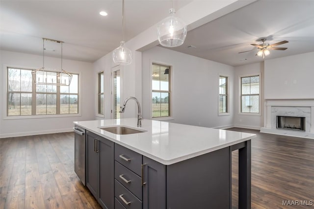
[[[190,1],[174,0],[174,7]],[[125,40],[165,18],[169,7],[170,0],[126,0]],[[65,42],[64,58],[94,62],[119,46],[121,19],[122,0],[0,0],[0,48],[41,55],[44,37]],[[262,61],[256,51],[238,52],[263,37],[289,42],[265,59],[314,51],[314,0],[258,0],[189,31],[183,46],[170,49],[239,66]]]

